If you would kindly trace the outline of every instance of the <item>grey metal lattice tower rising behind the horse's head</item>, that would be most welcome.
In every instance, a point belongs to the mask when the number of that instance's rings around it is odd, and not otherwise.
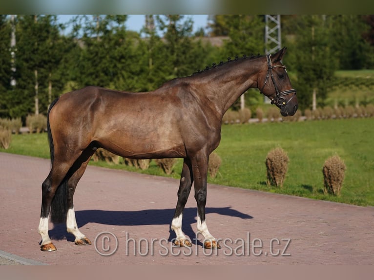
[[[265,54],[274,53],[281,47],[280,15],[265,15]],[[266,96],[264,100],[265,103],[270,103],[270,99]]]

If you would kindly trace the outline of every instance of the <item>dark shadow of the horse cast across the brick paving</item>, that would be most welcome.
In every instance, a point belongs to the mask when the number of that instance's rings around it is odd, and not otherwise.
[[[78,227],[81,228],[85,224],[93,222],[107,225],[170,225],[175,209],[146,209],[139,211],[109,211],[109,210],[81,210],[76,211],[76,219]],[[216,213],[219,215],[237,217],[241,219],[252,219],[253,217],[239,212],[231,207],[207,207],[206,214]],[[184,233],[190,238],[195,237],[195,232],[191,224],[196,222],[197,212],[196,208],[185,208],[183,211],[183,225]],[[74,241],[74,236],[66,232],[65,224],[56,224],[53,229],[49,231],[49,235],[53,239]],[[169,226],[168,241],[175,238],[175,233]],[[199,243],[198,243],[199,244]]]

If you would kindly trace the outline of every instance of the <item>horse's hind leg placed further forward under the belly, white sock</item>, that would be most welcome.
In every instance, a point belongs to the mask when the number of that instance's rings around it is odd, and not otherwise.
[[[91,159],[94,150],[89,146],[83,151],[81,157],[74,163],[69,180],[67,181],[67,216],[66,216],[66,231],[73,234],[75,237],[74,243],[77,245],[91,245],[91,241],[78,229],[77,221],[75,219],[73,196],[75,188]]]

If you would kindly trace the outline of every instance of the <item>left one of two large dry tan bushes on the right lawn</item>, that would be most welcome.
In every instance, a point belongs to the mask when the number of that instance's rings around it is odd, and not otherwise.
[[[286,179],[289,158],[286,152],[278,147],[271,150],[266,157],[267,184],[282,187]]]

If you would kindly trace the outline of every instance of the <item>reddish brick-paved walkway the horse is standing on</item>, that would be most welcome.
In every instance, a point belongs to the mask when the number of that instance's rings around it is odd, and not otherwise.
[[[178,180],[94,166],[74,196],[78,226],[93,244],[74,245],[64,225],[51,224],[57,251],[42,252],[48,172],[49,160],[0,153],[0,257],[52,265],[374,264],[373,207],[208,185],[207,223],[222,248],[204,250],[202,236],[195,240],[193,190],[183,230],[194,244],[179,248],[169,230]]]

